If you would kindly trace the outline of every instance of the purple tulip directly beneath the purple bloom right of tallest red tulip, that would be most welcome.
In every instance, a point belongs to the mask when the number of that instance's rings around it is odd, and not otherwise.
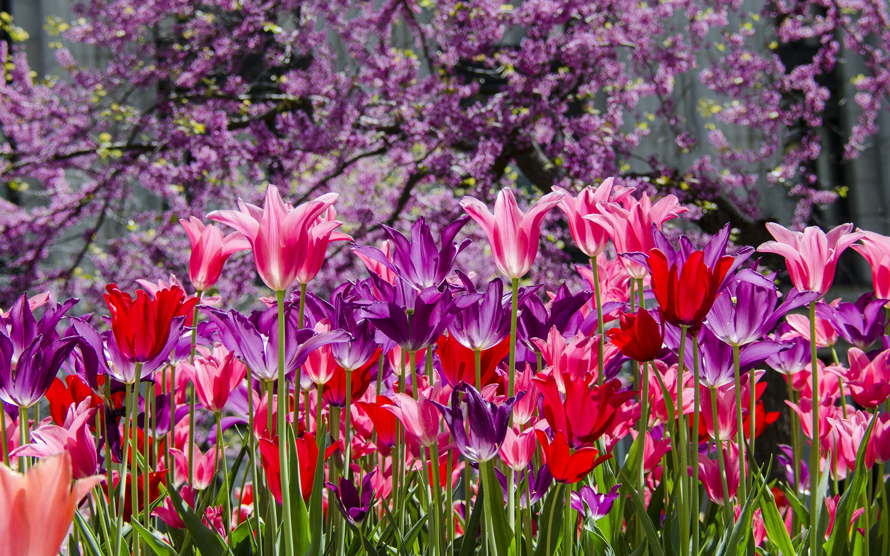
[[[733,382],[732,346],[716,336],[707,327],[703,328],[698,337],[701,353],[701,383],[708,388],[719,388]],[[773,357],[791,347],[789,343],[765,340],[753,342],[739,350],[739,371],[747,373],[757,367],[765,359]],[[684,356],[686,367],[692,368],[692,350]]]

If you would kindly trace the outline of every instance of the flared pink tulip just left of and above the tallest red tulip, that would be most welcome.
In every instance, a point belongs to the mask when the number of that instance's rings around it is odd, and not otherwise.
[[[680,201],[673,195],[661,198],[652,205],[649,195],[643,193],[640,200],[624,197],[623,207],[617,203],[597,203],[598,214],[588,214],[584,218],[609,230],[615,250],[619,253],[649,253],[655,247],[652,226],[661,230],[661,226],[672,218],[687,212]],[[643,265],[621,258],[627,274],[632,278],[645,278],[649,274]]]

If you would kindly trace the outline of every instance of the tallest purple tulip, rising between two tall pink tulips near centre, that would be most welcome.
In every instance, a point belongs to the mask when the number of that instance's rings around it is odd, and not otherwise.
[[[429,224],[423,217],[411,226],[411,239],[405,238],[400,231],[384,225],[386,235],[392,241],[392,261],[383,251],[372,246],[356,247],[360,254],[380,262],[396,276],[404,280],[417,291],[428,287],[439,288],[454,268],[454,260],[472,239],[465,239],[458,246],[454,242],[457,232],[470,220],[469,216],[461,216],[449,223],[439,234],[439,246],[433,239]]]

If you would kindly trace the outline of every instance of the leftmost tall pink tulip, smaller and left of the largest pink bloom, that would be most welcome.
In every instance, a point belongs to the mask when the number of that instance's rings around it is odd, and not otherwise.
[[[191,242],[189,279],[199,292],[210,289],[220,279],[223,264],[233,253],[250,249],[250,243],[240,232],[223,238],[223,232],[213,224],[204,225],[194,216],[181,220],[182,228]]]

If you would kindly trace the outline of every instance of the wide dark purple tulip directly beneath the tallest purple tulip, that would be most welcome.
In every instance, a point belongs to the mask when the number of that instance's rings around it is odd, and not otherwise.
[[[372,302],[361,310],[381,334],[399,344],[405,351],[425,350],[445,331],[459,310],[479,298],[479,294],[454,297],[446,290],[427,287],[408,295],[405,304]],[[398,296],[396,297],[398,299]]]

